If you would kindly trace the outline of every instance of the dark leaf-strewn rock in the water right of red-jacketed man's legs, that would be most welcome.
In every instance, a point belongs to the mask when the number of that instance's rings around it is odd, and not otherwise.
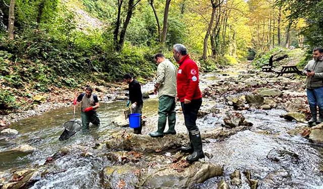
[[[250,122],[247,122],[244,118],[244,116],[241,113],[238,112],[226,112],[226,117],[223,119],[224,123],[225,123],[225,127],[228,128],[235,128],[241,125],[245,125],[245,126],[252,126],[253,124]]]

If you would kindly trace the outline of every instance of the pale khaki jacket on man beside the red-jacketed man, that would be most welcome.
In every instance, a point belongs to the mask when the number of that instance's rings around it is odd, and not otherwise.
[[[170,60],[165,59],[159,63],[156,79],[156,83],[160,84],[158,98],[162,95],[176,97],[176,76],[176,68]]]

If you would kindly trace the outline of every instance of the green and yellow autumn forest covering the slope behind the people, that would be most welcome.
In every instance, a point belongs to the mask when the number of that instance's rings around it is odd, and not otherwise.
[[[0,103],[14,107],[15,95],[28,91],[115,82],[125,73],[147,81],[156,69],[153,54],[172,59],[176,43],[187,46],[203,72],[281,48],[305,48],[308,59],[322,45],[321,6],[317,0],[1,0]]]

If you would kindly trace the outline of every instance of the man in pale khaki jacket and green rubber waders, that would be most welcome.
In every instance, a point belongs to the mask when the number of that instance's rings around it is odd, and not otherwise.
[[[165,58],[164,54],[156,54],[154,60],[158,64],[157,79],[153,89],[154,94],[158,92],[158,128],[156,132],[149,133],[149,135],[150,137],[175,135],[176,68],[169,59]],[[164,133],[167,118],[169,129]]]

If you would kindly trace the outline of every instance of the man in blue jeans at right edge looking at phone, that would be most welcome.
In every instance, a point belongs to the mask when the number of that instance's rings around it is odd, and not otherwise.
[[[313,59],[303,70],[306,78],[306,93],[312,117],[308,124],[314,126],[323,122],[323,48],[314,48]],[[316,106],[318,106],[318,120]]]

